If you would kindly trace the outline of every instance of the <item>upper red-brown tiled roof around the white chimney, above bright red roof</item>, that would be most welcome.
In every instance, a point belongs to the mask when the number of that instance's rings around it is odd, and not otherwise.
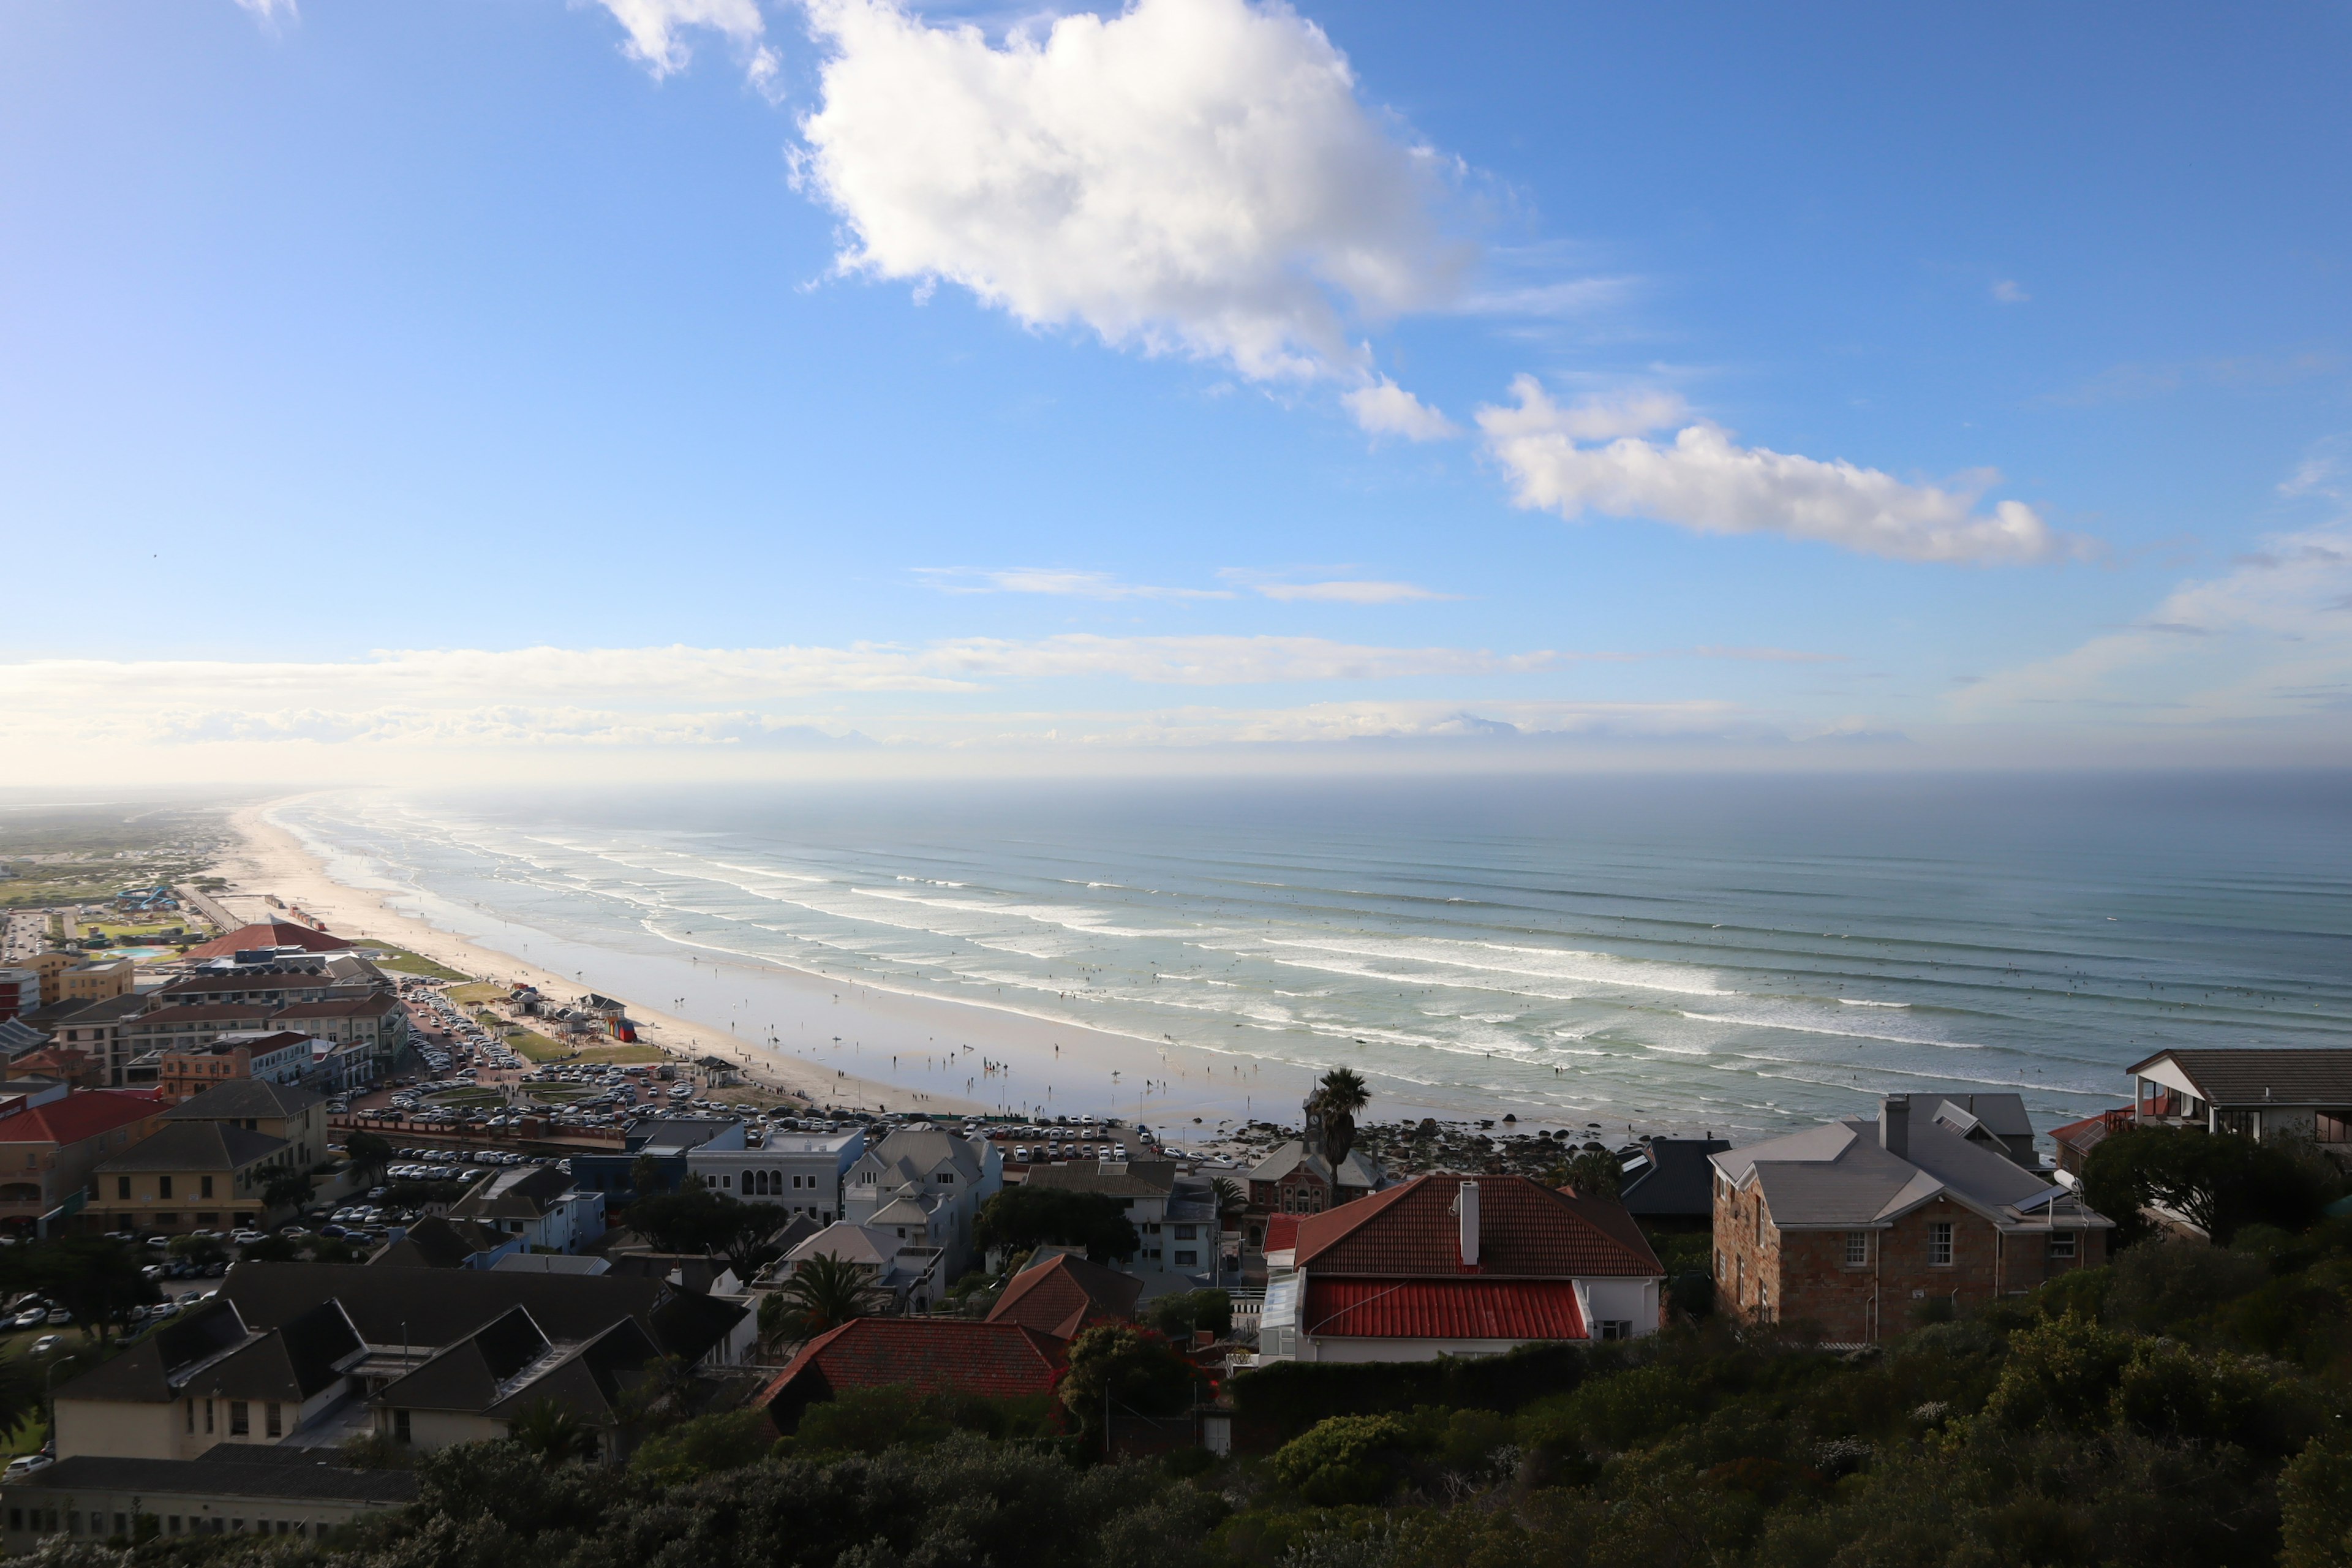
[[[1566,1279],[1665,1274],[1632,1222],[1595,1215],[1597,1199],[1569,1199],[1524,1175],[1421,1175],[1369,1199],[1341,1204],[1298,1222],[1298,1267],[1334,1274],[1458,1276],[1461,1220],[1454,1199],[1479,1187],[1477,1274],[1494,1279]]]

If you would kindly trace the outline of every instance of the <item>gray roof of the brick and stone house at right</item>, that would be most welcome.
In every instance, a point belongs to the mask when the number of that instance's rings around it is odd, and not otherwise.
[[[1879,1147],[1875,1121],[1832,1121],[1726,1150],[1710,1164],[1740,1187],[1762,1185],[1773,1225],[1785,1229],[1870,1229],[1938,1197],[1966,1204],[2004,1227],[2039,1227],[2051,1213],[2046,1204],[2034,1206],[2034,1199],[2063,1192],[1994,1150],[1917,1117],[1905,1157]],[[2018,1204],[2027,1208],[2020,1211]],[[2065,1218],[2074,1225],[2107,1225],[2072,1199]]]

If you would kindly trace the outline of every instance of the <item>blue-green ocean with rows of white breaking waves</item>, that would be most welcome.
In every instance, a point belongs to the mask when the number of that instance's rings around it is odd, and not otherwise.
[[[597,954],[640,985],[781,964],[1131,1039],[1129,1081],[1169,1044],[1237,1084],[1350,1065],[1376,1117],[1745,1140],[2013,1088],[2049,1128],[2164,1046],[2352,1044],[2340,773],[372,790],[273,820],[590,985]],[[743,1023],[691,992],[659,1001]]]

